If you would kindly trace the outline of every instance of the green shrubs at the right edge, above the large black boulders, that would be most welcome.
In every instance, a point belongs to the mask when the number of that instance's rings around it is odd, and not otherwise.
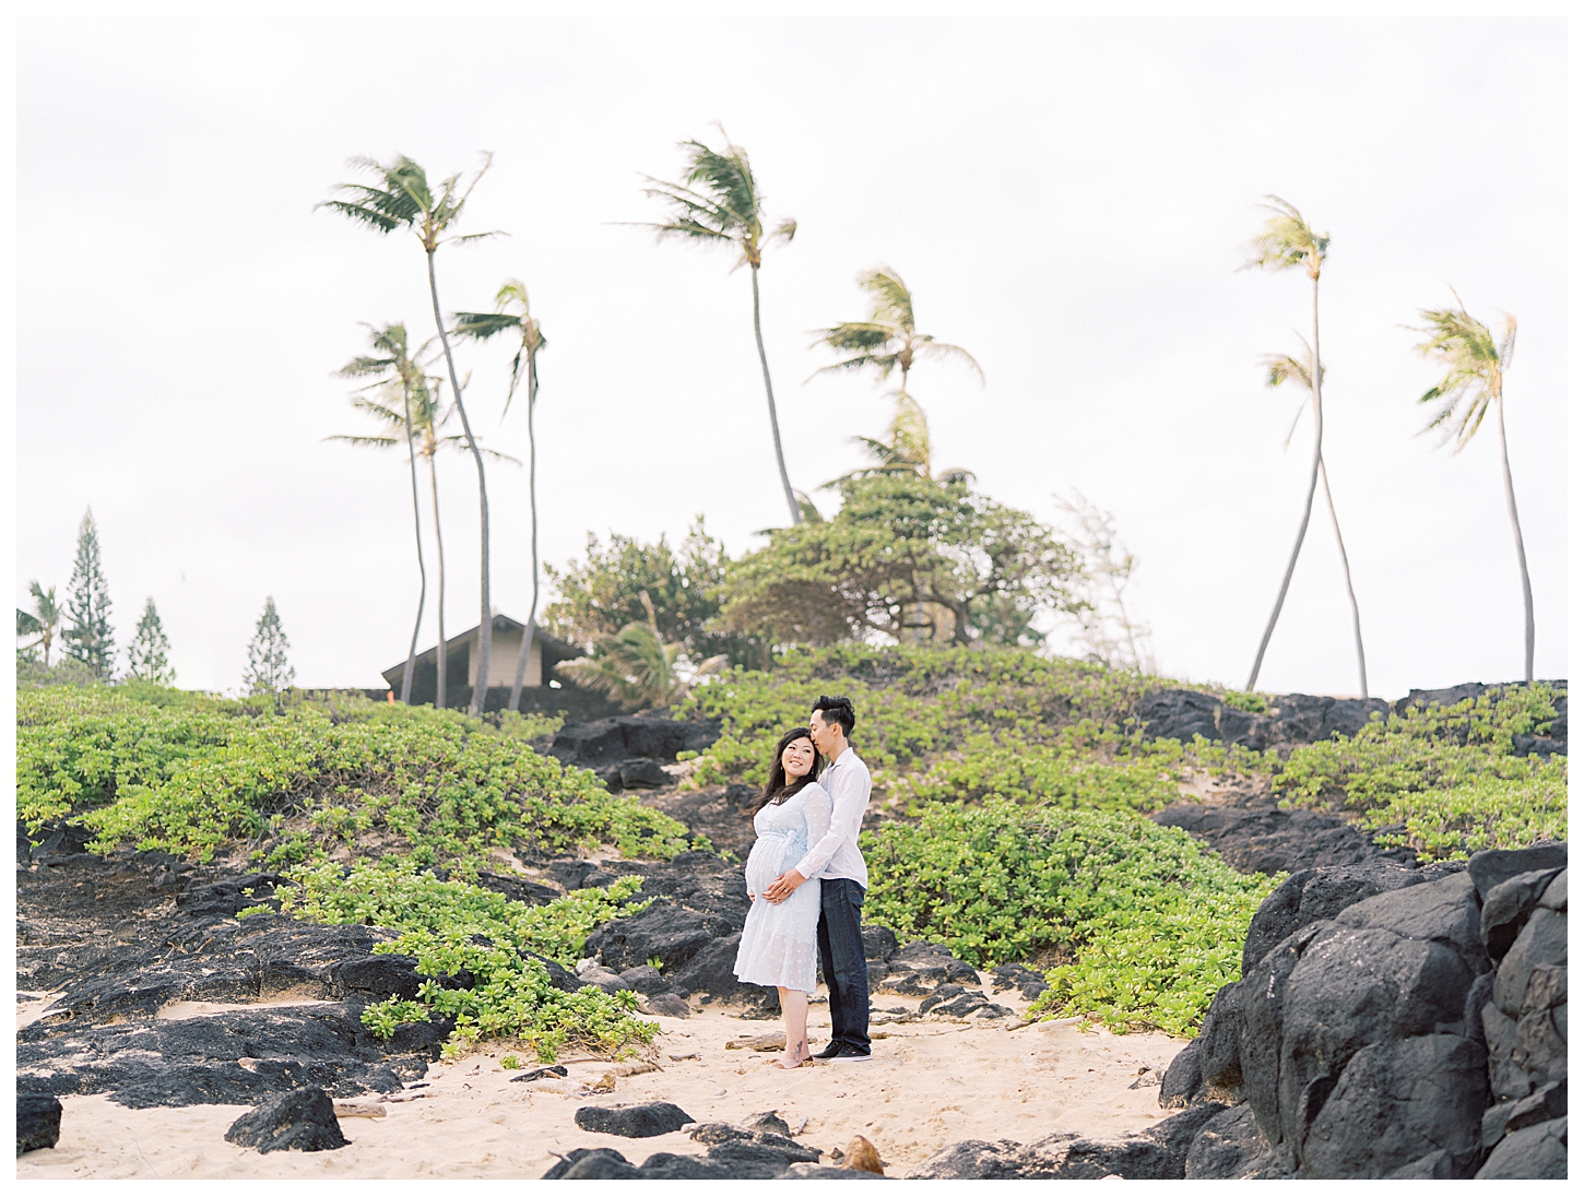
[[[1350,740],[1299,748],[1275,786],[1296,805],[1348,811],[1426,860],[1567,838],[1567,757],[1513,754],[1516,735],[1549,729],[1557,697],[1541,683],[1415,705]]]

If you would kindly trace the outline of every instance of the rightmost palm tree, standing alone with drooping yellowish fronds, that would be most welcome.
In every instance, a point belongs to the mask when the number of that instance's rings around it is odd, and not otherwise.
[[[1427,326],[1415,331],[1424,341],[1415,352],[1437,361],[1446,374],[1419,396],[1419,402],[1438,404],[1424,431],[1441,428],[1446,436],[1441,444],[1451,444],[1453,453],[1460,453],[1473,440],[1486,413],[1495,409],[1495,431],[1502,445],[1502,482],[1506,486],[1506,515],[1513,521],[1513,542],[1517,545],[1517,572],[1524,581],[1524,680],[1535,680],[1535,596],[1529,588],[1529,559],[1524,556],[1524,529],[1517,524],[1517,497],[1513,494],[1513,467],[1506,458],[1506,417],[1502,404],[1502,383],[1513,364],[1513,345],[1517,341],[1517,320],[1502,312],[1502,339],[1464,309],[1464,301],[1453,291],[1457,307],[1437,307],[1419,312]]]

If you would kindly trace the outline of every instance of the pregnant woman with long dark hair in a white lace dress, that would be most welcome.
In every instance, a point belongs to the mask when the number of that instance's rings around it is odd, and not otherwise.
[[[830,795],[817,783],[819,752],[808,727],[781,737],[770,762],[770,779],[749,814],[759,840],[748,855],[748,897],[752,906],[737,947],[737,979],[775,985],[787,1025],[781,1068],[802,1068],[808,1049],[808,998],[814,992],[819,935],[819,886],[803,884],[781,901],[765,897],[770,882],[795,868],[830,828]]]

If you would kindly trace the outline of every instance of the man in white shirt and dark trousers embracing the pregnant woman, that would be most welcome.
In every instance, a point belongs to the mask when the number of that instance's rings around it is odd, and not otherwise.
[[[863,962],[863,893],[870,870],[859,832],[870,808],[870,770],[847,737],[857,722],[852,702],[821,697],[808,719],[809,738],[830,768],[819,783],[830,794],[830,830],[765,895],[782,901],[808,878],[819,878],[819,966],[830,990],[830,1046],[814,1055],[832,1063],[870,1060],[870,969]]]

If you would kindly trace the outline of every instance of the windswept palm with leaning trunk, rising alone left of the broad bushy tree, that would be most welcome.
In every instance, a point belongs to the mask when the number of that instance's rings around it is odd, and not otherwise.
[[[725,149],[716,152],[702,141],[683,141],[687,168],[680,182],[665,182],[649,174],[651,184],[643,193],[664,200],[672,208],[672,219],[664,223],[645,223],[656,238],[680,238],[705,244],[729,244],[738,252],[737,266],[746,265],[754,288],[754,342],[759,345],[759,368],[765,375],[765,401],[770,404],[770,436],[776,447],[776,469],[781,472],[781,489],[786,494],[792,523],[802,523],[803,515],[787,477],[787,463],[781,453],[781,425],[776,420],[776,394],[770,385],[770,360],[765,356],[765,337],[759,328],[759,266],[765,246],[775,241],[790,241],[797,233],[797,220],[782,220],[775,231],[765,234],[765,208],[754,171],[748,165],[748,150],[733,146],[725,128],[716,124],[725,138]]]

